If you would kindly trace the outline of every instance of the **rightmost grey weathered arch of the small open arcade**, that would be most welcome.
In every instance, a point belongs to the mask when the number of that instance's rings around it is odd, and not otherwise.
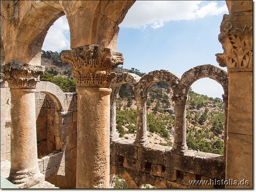
[[[204,77],[209,77],[217,81],[222,85],[224,94],[228,95],[228,73],[225,70],[211,64],[199,65],[183,73],[180,79],[180,84],[185,86],[185,95],[188,95],[190,86],[196,80]]]

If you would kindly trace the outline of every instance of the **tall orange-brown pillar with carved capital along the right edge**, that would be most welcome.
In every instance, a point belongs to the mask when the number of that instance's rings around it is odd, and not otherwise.
[[[226,180],[252,188],[252,1],[226,1],[229,15],[220,24],[219,41],[224,49],[216,54],[228,69],[228,127]]]

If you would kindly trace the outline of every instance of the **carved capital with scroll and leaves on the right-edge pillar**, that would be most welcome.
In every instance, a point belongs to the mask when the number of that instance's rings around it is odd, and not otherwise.
[[[224,50],[217,62],[228,72],[252,71],[252,11],[224,15],[219,41]]]

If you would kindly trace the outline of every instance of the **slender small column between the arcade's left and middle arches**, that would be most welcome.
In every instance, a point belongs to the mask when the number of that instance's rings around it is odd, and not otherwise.
[[[145,146],[149,143],[147,136],[147,96],[135,96],[137,104],[136,138],[134,145]]]

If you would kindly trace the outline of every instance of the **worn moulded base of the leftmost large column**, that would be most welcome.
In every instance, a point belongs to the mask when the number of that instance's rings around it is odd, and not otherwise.
[[[19,188],[30,188],[38,183],[44,181],[44,174],[40,173],[39,170],[37,173],[28,173],[22,175],[13,175],[10,173],[8,180],[11,181]]]

